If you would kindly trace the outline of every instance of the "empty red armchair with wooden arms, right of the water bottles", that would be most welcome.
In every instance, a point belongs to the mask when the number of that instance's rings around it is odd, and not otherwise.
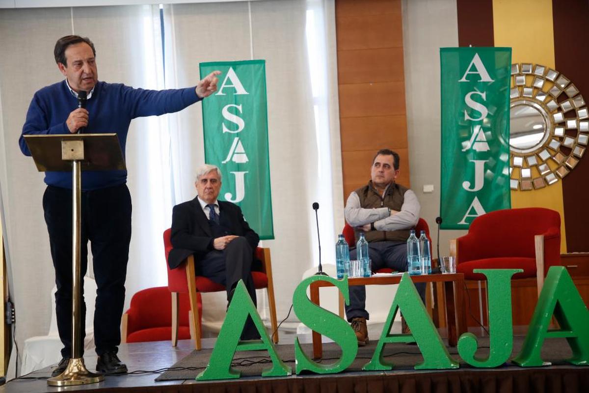
[[[450,254],[466,280],[485,279],[473,269],[524,269],[514,279],[536,277],[540,293],[548,267],[560,265],[560,214],[541,207],[483,214],[451,240]]]

